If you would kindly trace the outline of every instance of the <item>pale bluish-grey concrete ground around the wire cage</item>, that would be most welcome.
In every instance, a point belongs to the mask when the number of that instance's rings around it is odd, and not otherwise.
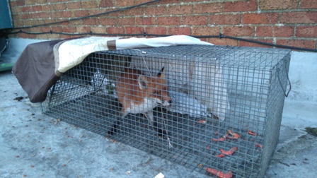
[[[0,177],[155,177],[160,172],[209,177],[47,117],[10,71],[0,72],[0,97]],[[279,143],[265,177],[317,177],[317,137],[304,129],[317,126],[316,108],[316,102],[285,100]]]

